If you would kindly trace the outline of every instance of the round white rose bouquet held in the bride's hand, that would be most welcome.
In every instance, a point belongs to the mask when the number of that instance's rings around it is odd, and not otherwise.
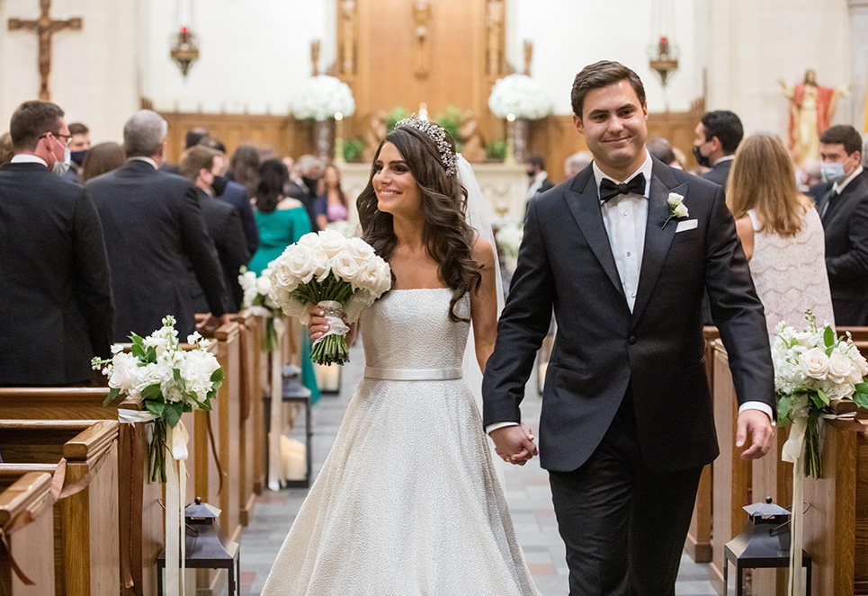
[[[391,287],[389,264],[362,238],[345,238],[334,230],[305,234],[271,263],[269,297],[288,316],[308,322],[307,308],[326,312],[329,330],[314,342],[318,364],[349,360],[346,334],[362,308]]]

